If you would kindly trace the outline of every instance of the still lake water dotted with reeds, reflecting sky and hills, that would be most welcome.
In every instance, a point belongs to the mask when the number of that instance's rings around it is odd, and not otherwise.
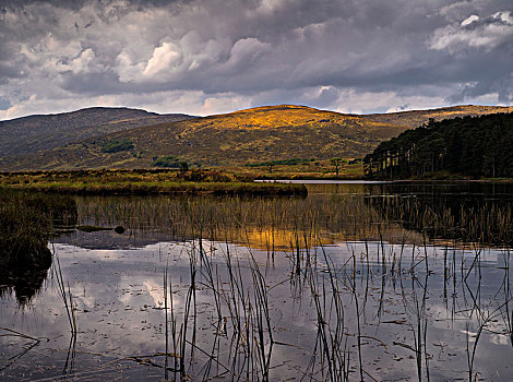
[[[510,184],[308,189],[76,198],[0,279],[0,380],[513,380]]]

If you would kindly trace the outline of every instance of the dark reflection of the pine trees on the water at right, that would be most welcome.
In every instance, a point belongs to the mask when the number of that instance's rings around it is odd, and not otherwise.
[[[428,239],[511,246],[512,191],[509,183],[391,182],[367,188],[366,202]]]

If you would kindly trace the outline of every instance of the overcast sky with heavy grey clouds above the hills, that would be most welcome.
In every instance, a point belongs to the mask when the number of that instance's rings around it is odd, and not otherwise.
[[[512,0],[0,0],[0,120],[512,100]]]

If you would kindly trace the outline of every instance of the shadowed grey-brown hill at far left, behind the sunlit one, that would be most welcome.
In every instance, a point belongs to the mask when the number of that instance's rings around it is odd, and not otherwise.
[[[95,135],[188,118],[193,117],[157,115],[129,108],[93,107],[0,121],[0,157],[26,155]]]

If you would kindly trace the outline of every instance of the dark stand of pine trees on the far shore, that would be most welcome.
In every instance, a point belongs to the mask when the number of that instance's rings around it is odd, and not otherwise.
[[[407,130],[363,158],[370,178],[409,178],[446,171],[513,177],[513,114],[446,119]]]

